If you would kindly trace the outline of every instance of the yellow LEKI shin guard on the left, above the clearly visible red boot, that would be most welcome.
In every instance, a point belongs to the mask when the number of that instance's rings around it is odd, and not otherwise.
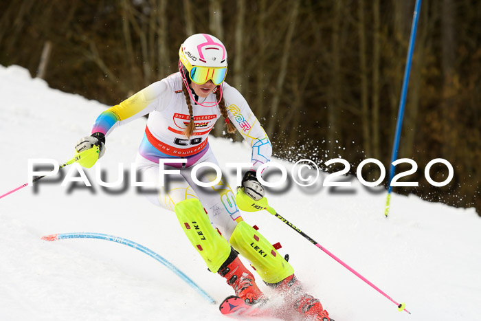
[[[212,227],[199,199],[180,201],[174,211],[190,243],[201,254],[210,271],[216,273],[229,257],[229,243]]]

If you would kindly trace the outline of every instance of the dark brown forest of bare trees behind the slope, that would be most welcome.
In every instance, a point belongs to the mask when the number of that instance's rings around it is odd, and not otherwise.
[[[113,105],[176,72],[182,41],[207,32],[226,45],[226,80],[276,156],[323,168],[340,155],[354,175],[372,157],[389,170],[414,2],[0,1],[0,64]],[[423,0],[398,156],[416,161],[405,180],[419,186],[394,192],[481,214],[480,21],[481,1]],[[424,177],[439,157],[454,166],[442,188]],[[379,177],[365,170],[366,179]],[[435,181],[446,175],[445,166],[431,170]]]

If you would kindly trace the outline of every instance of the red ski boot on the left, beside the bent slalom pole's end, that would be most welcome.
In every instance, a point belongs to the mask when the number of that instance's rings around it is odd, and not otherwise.
[[[231,248],[231,254],[227,261],[219,268],[219,274],[227,280],[227,284],[232,286],[236,296],[245,302],[254,305],[264,302],[265,296],[256,285],[254,275],[240,262],[238,253]]]

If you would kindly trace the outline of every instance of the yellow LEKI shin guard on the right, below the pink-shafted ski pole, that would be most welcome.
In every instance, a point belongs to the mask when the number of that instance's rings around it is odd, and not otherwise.
[[[294,273],[291,265],[271,243],[245,221],[237,224],[230,237],[230,244],[251,262],[266,283],[278,283]]]

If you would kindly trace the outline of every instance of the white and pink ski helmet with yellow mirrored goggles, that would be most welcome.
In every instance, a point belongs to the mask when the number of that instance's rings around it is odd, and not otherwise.
[[[227,74],[227,50],[210,34],[193,34],[179,49],[179,71],[182,78],[199,85],[212,80],[221,85]]]

